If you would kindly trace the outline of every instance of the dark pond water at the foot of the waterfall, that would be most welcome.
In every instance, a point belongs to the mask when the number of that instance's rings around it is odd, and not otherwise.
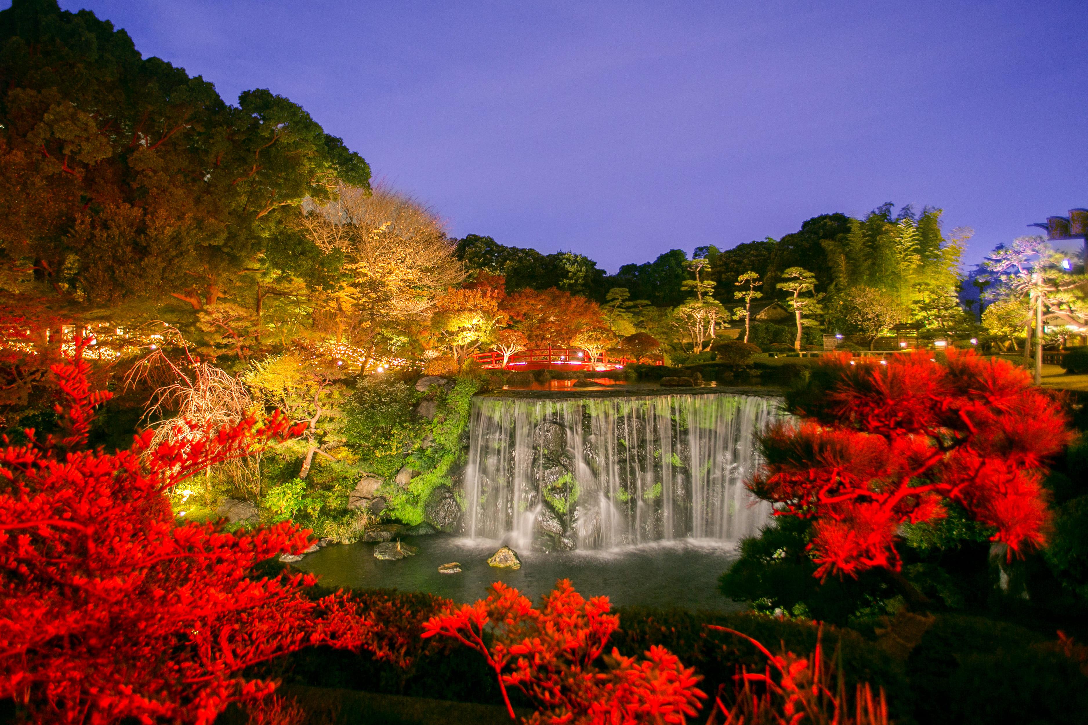
[[[388,587],[430,591],[456,601],[486,596],[493,582],[505,582],[539,601],[557,579],[568,578],[585,597],[608,596],[617,607],[680,607],[735,611],[743,604],[722,597],[717,579],[737,558],[731,543],[709,539],[658,541],[638,547],[557,553],[518,552],[522,566],[492,568],[487,557],[498,541],[450,536],[406,537],[419,547],[401,561],[374,559],[373,543],[332,546],[296,564],[333,587]],[[438,574],[438,565],[460,562],[460,574]]]

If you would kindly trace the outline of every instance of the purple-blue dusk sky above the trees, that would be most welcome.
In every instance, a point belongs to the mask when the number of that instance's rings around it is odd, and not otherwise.
[[[453,235],[611,272],[885,201],[974,227],[974,263],[1088,207],[1084,0],[61,7],[300,103]]]

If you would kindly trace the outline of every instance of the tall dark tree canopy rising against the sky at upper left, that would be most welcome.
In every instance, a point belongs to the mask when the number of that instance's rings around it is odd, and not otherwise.
[[[75,301],[150,291],[214,304],[302,199],[370,167],[269,90],[228,105],[54,0],[0,12],[0,245]]]

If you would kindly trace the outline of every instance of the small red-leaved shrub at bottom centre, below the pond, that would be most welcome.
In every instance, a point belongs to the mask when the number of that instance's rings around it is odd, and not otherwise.
[[[646,660],[613,648],[601,658],[619,626],[607,597],[586,601],[562,579],[535,610],[528,598],[502,582],[486,600],[449,608],[423,625],[423,637],[445,635],[477,650],[495,671],[503,698],[515,717],[507,686],[521,690],[539,708],[529,723],[626,725],[684,723],[706,696],[698,677],[664,647]]]

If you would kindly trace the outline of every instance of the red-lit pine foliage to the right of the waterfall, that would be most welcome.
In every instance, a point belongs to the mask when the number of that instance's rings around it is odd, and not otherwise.
[[[817,576],[898,570],[899,526],[943,516],[945,500],[1011,551],[1044,541],[1043,465],[1070,432],[1025,371],[950,351],[947,364],[843,355],[824,372],[834,383],[820,404],[763,436],[767,464],[751,485],[779,515],[816,520]]]

